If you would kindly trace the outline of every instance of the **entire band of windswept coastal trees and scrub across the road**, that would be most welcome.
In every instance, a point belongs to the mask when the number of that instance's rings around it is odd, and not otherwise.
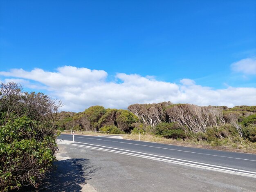
[[[57,123],[61,130],[139,132],[166,138],[214,140],[238,136],[256,141],[256,106],[198,106],[173,104],[133,104],[124,109],[92,106],[84,112],[61,112]],[[249,120],[248,120],[249,119]],[[247,123],[250,122],[250,123]]]

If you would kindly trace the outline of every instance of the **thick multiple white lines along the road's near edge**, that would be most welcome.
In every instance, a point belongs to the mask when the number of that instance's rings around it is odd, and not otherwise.
[[[113,153],[118,153],[118,154],[125,154],[125,155],[130,155],[130,156],[137,156],[137,157],[141,157],[141,158],[145,158],[145,159],[152,159],[152,160],[156,160],[156,161],[163,161],[163,162],[174,163],[174,164],[179,164],[179,165],[187,165],[190,167],[197,167],[197,168],[202,168],[202,169],[207,169],[207,170],[216,170],[219,172],[238,174],[238,175],[242,175],[242,176],[249,176],[249,177],[256,178],[256,172],[249,172],[246,170],[238,170],[238,169],[233,169],[233,168],[229,168],[229,167],[221,167],[221,166],[217,166],[217,165],[210,165],[210,164],[204,164],[204,163],[198,163],[198,162],[194,162],[196,164],[193,164],[193,161],[190,161],[190,163],[186,163],[186,162],[180,162],[180,161],[175,161],[175,160],[171,160],[171,159],[163,159],[163,158],[158,158],[158,157],[146,156],[146,155],[142,155],[143,153],[142,154],[134,154],[134,153],[130,153],[130,152],[120,152],[120,151],[116,151],[116,150],[104,149],[104,148],[100,148],[100,147],[85,146],[85,145],[78,145],[78,144],[73,144],[73,143],[63,143],[63,144],[74,145],[74,146],[79,146],[79,147],[84,147],[84,148],[89,148],[89,149],[95,149],[95,150],[101,150],[101,151],[106,151],[106,152],[113,152]],[[149,154],[149,155],[152,155],[152,154]],[[164,156],[162,156],[162,157],[164,157]],[[168,158],[168,157],[166,157],[166,158]],[[184,160],[181,160],[181,161],[184,161]],[[202,164],[202,165],[198,165],[198,164]]]

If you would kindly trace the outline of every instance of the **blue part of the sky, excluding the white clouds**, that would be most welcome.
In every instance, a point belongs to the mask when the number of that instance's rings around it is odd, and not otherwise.
[[[213,90],[256,88],[256,74],[238,63],[251,59],[245,61],[253,71],[255,57],[253,0],[0,2],[0,71],[73,66],[106,71],[105,83],[123,83],[121,73],[175,85],[185,78]],[[36,78],[0,74],[10,78],[53,96],[59,91]]]

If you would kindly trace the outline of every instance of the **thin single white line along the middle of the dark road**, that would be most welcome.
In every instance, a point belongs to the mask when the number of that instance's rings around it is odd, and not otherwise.
[[[76,137],[76,138],[85,138],[85,137]],[[97,139],[97,138],[88,138],[88,139],[101,140],[101,141],[109,141],[109,140]],[[141,144],[135,144],[135,143],[120,142],[120,141],[110,141],[110,142],[126,143],[126,144],[130,144],[130,145],[141,145]],[[149,146],[149,145],[141,145],[141,146],[160,148],[160,149],[166,149],[166,150],[173,150],[173,151],[180,151],[180,152],[187,152],[187,153],[203,154],[203,155],[209,155],[209,156],[218,156],[218,157],[224,157],[224,158],[230,158],[230,159],[240,159],[240,160],[245,160],[245,161],[256,161],[256,160],[252,160],[252,159],[242,159],[242,158],[229,157],[229,156],[221,156],[221,155],[205,154],[205,153],[198,153],[198,152],[191,152],[191,151],[184,151],[184,150],[168,149],[168,148],[165,148],[165,147],[155,147],[155,146]]]

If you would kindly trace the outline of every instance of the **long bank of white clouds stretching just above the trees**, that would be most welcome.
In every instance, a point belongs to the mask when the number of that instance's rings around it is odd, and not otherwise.
[[[92,105],[127,108],[134,103],[191,103],[196,105],[256,105],[256,88],[228,87],[214,90],[196,85],[194,80],[182,79],[181,85],[158,81],[137,74],[118,73],[117,82],[106,81],[107,73],[72,66],[59,67],[55,72],[33,69],[0,71],[25,87],[47,89],[51,96],[65,103],[63,110],[83,111]],[[11,78],[10,78],[11,77]],[[31,83],[36,82],[36,83]],[[37,84],[38,83],[38,84]],[[38,88],[36,87],[36,88]]]

